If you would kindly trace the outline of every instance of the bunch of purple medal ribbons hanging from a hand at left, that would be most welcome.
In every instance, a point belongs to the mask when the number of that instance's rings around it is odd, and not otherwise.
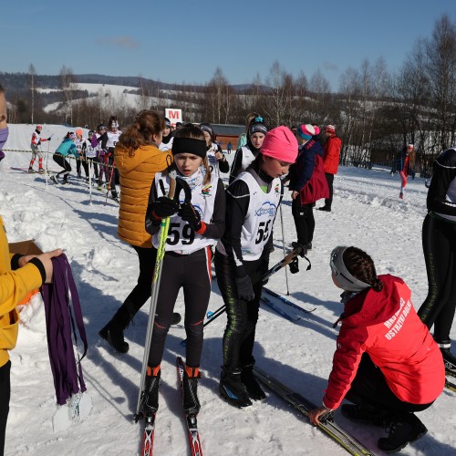
[[[47,326],[47,350],[54,377],[57,404],[64,405],[74,393],[84,392],[86,385],[80,361],[86,356],[88,343],[82,319],[78,290],[67,256],[52,258],[53,283],[43,285],[41,295],[45,302]],[[77,331],[78,329],[78,331]],[[74,345],[78,349],[78,333],[83,345],[82,356],[75,358]]]

